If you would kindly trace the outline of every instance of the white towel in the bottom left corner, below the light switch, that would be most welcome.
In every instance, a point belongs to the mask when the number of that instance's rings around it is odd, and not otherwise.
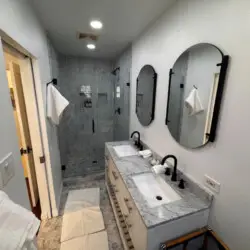
[[[0,191],[0,249],[36,249],[33,242],[40,221]]]

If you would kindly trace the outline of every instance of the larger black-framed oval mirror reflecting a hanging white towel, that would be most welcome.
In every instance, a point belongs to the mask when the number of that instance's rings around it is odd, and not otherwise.
[[[187,49],[170,69],[166,125],[182,146],[215,140],[228,60],[203,43]]]

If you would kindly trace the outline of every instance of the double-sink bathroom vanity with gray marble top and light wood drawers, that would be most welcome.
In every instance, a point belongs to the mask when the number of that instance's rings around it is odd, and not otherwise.
[[[180,189],[150,168],[131,142],[106,143],[106,186],[125,249],[160,249],[208,222],[211,194],[185,177]]]

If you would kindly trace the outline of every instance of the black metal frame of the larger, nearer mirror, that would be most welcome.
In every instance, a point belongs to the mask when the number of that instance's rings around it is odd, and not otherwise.
[[[212,124],[211,124],[211,130],[210,133],[207,134],[208,140],[205,144],[201,145],[205,146],[208,142],[214,142],[216,138],[216,130],[217,130],[217,125],[218,125],[218,120],[219,120],[219,115],[220,115],[220,106],[223,98],[223,90],[224,90],[224,85],[225,85],[225,80],[226,80],[226,73],[227,73],[227,68],[229,64],[229,56],[224,55],[223,52],[215,45],[211,43],[197,43],[194,44],[193,46],[187,48],[183,53],[185,53],[187,50],[191,49],[192,47],[195,47],[196,45],[202,45],[202,44],[207,44],[209,46],[215,47],[221,54],[222,60],[221,63],[217,64],[217,67],[221,67],[220,69],[220,77],[219,77],[219,82],[218,82],[218,88],[216,92],[216,97],[215,97],[215,103],[214,103],[214,112],[213,112],[213,117],[212,117]],[[178,59],[183,55],[183,53],[177,58],[177,60],[174,62],[174,64],[178,61]],[[168,113],[169,113],[169,98],[170,98],[170,88],[171,88],[171,80],[172,80],[172,75],[174,74],[173,68],[169,70],[169,83],[168,83],[168,101],[167,101],[167,111],[166,111],[166,119],[165,119],[165,125],[168,125]],[[199,147],[198,147],[199,148]]]

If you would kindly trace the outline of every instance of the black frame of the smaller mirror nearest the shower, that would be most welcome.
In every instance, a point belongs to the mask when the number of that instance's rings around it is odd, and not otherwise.
[[[140,76],[140,73],[141,73],[141,71],[142,71],[145,67],[147,67],[147,66],[150,66],[150,67],[153,69],[153,71],[154,71],[154,76],[153,76],[153,80],[154,80],[154,86],[153,86],[153,102],[152,102],[152,110],[151,110],[151,120],[149,121],[149,123],[148,123],[147,125],[143,125],[143,124],[141,124],[140,119],[139,119],[139,117],[138,117],[138,113],[137,113],[137,90],[138,90],[138,83],[139,83],[139,76]],[[150,64],[144,65],[144,66],[141,68],[138,77],[136,78],[135,113],[136,113],[136,116],[137,116],[137,118],[138,118],[140,124],[141,124],[142,126],[144,126],[144,127],[149,126],[149,125],[153,122],[153,120],[154,120],[154,118],[155,118],[155,101],[156,101],[157,78],[158,78],[158,74],[156,73],[154,67],[153,67],[152,65],[150,65]]]

